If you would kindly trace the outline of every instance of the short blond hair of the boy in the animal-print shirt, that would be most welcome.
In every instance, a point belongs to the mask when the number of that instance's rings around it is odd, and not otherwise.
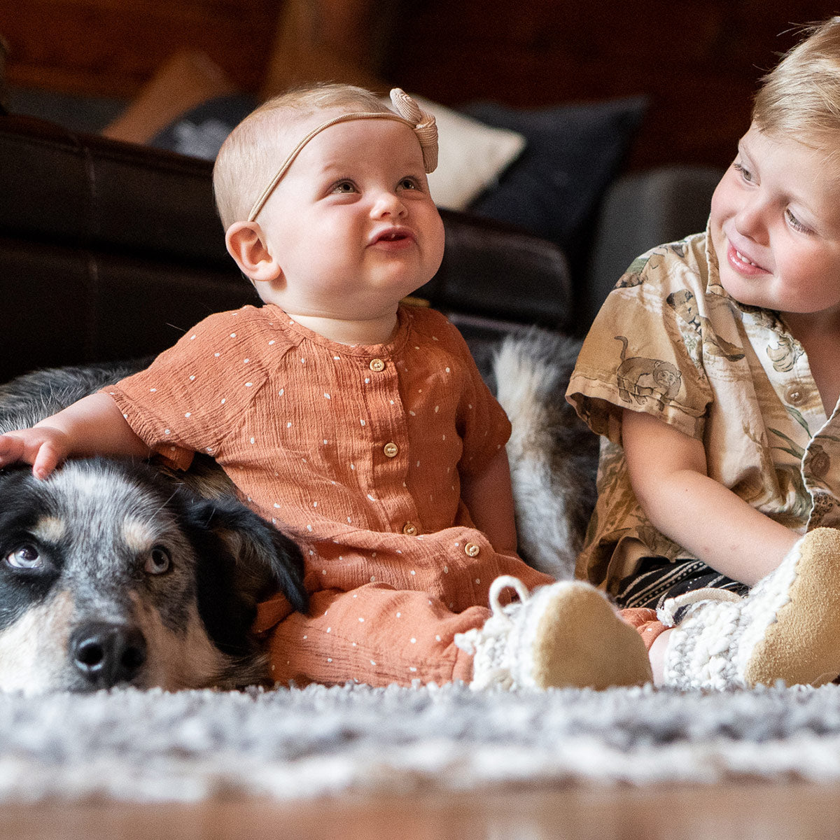
[[[804,31],[806,37],[764,76],[753,122],[764,132],[822,146],[840,129],[840,17]]]

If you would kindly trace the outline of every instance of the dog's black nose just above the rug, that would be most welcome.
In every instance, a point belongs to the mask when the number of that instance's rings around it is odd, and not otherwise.
[[[137,627],[96,622],[71,636],[70,658],[92,688],[129,682],[146,661],[146,640]]]

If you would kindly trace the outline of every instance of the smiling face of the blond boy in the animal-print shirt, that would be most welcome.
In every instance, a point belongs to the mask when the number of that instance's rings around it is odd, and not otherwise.
[[[840,171],[755,124],[711,199],[721,283],[737,301],[840,314]]]

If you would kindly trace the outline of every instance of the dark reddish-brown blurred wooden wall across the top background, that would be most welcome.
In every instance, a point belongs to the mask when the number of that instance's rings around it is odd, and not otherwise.
[[[124,139],[148,139],[202,97],[312,79],[398,84],[454,107],[643,94],[632,169],[726,165],[795,25],[834,11],[822,0],[0,0],[0,34],[13,110],[104,129],[157,81],[160,102],[113,130]]]

